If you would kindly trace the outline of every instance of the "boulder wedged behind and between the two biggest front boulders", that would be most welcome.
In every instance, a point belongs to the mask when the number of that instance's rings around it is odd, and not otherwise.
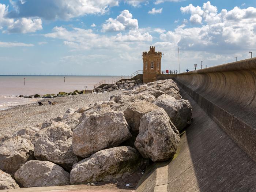
[[[130,126],[130,131],[132,135],[136,136],[139,134],[140,119],[142,118],[142,116],[158,108],[159,107],[154,105],[153,103],[143,101],[143,102],[131,103],[124,110],[124,116],[127,123]]]

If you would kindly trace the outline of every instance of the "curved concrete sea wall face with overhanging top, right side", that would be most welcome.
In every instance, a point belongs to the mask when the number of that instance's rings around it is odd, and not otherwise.
[[[256,58],[182,73],[175,80],[256,161]]]

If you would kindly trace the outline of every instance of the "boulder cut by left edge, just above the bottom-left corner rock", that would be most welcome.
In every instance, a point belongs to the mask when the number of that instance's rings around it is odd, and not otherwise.
[[[27,161],[34,159],[34,146],[30,140],[16,136],[0,145],[0,169],[14,174]]]

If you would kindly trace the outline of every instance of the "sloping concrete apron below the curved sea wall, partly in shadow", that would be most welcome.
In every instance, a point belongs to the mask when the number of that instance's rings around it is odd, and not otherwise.
[[[255,191],[256,163],[181,89],[193,122],[181,133],[177,154],[144,174],[138,192]]]

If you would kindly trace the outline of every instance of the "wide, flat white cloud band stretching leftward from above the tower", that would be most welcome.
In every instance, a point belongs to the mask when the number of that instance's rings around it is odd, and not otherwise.
[[[91,29],[73,28],[67,30],[64,27],[54,27],[52,33],[45,37],[64,40],[64,45],[73,49],[129,49],[129,44],[134,42],[152,41],[149,33],[142,33],[139,30],[130,30],[127,34],[119,33],[113,36],[95,34]]]

